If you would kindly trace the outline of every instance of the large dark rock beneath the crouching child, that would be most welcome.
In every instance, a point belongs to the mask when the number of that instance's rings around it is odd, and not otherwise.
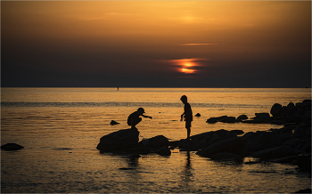
[[[104,135],[96,149],[101,151],[116,151],[135,148],[139,141],[139,132],[134,129],[122,129]]]

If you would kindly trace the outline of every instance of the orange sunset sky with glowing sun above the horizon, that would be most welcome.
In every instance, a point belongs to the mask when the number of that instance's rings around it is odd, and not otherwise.
[[[310,87],[311,2],[1,1],[1,85]]]

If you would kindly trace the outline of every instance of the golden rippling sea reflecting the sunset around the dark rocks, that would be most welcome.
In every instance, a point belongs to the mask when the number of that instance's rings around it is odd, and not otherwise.
[[[140,140],[186,138],[182,95],[201,117],[191,135],[219,129],[244,133],[282,125],[208,124],[209,117],[255,117],[275,103],[311,99],[310,88],[1,88],[1,193],[291,193],[311,188],[308,174],[291,164],[216,161],[195,151],[171,150],[128,158],[100,153],[103,135],[127,129],[138,108]],[[111,125],[111,120],[119,125]]]

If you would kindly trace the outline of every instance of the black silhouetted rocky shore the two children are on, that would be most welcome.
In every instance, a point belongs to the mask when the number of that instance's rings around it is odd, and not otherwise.
[[[255,113],[255,117],[250,119],[242,115],[207,120],[207,123],[216,122],[276,124],[283,127],[250,133],[220,129],[193,135],[191,141],[168,141],[163,135],[139,141],[138,131],[123,129],[103,136],[97,149],[139,158],[150,153],[169,156],[170,150],[178,148],[180,151],[196,151],[201,157],[215,160],[242,162],[242,158],[251,157],[258,158],[258,162],[291,163],[311,174],[311,100],[296,104],[291,102],[287,106],[275,103],[270,113]]]

